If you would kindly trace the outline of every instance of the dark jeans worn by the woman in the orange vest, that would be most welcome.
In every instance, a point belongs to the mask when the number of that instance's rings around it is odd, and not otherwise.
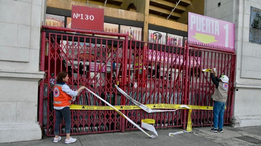
[[[65,120],[65,133],[71,132],[71,111],[70,107],[64,107],[61,110],[55,110],[55,126],[54,126],[54,135],[59,134],[60,124],[62,121],[62,117]]]

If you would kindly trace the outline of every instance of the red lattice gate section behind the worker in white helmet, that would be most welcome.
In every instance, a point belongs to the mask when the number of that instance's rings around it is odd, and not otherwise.
[[[203,44],[202,44],[203,45]],[[201,72],[201,69],[217,69],[217,75],[229,77],[229,90],[224,113],[224,124],[229,124],[233,109],[233,90],[235,75],[236,54],[234,48],[207,47],[187,44],[189,48],[188,66],[188,94],[187,104],[199,106],[213,106],[210,95],[213,94],[215,85],[211,81],[209,72]],[[186,99],[185,99],[186,100]],[[191,121],[193,126],[213,125],[213,110],[192,110]]]

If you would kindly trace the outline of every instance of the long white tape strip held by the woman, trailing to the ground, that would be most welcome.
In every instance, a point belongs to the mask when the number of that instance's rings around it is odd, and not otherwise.
[[[132,125],[134,125],[135,127],[137,127],[139,130],[141,130],[143,133],[145,133],[147,136],[151,137],[151,138],[156,138],[158,136],[158,133],[156,132],[154,126],[149,125],[146,123],[142,123],[142,127],[153,132],[155,135],[150,135],[147,132],[145,132],[142,128],[140,128],[136,123],[134,123],[130,118],[128,118],[125,114],[122,114],[122,112],[120,112],[119,110],[117,110],[114,106],[112,106],[110,103],[108,103],[107,101],[105,101],[104,99],[102,99],[100,96],[98,96],[97,94],[95,94],[94,92],[90,91],[88,88],[85,87],[86,90],[88,90],[91,94],[93,94],[94,96],[96,96],[98,99],[102,100],[103,102],[105,102],[107,105],[109,105],[110,107],[112,107],[114,110],[116,110],[118,112],[118,114],[122,115],[124,118],[126,118]],[[144,124],[144,125],[143,125]]]

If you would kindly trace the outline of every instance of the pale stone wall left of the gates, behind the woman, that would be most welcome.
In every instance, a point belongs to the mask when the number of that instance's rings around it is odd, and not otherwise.
[[[45,0],[0,0],[0,143],[41,139],[37,121]]]

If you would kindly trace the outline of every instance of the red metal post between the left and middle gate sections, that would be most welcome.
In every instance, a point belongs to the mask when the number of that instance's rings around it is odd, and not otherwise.
[[[126,81],[126,77],[127,77],[127,60],[128,60],[128,39],[129,39],[129,36],[125,36],[125,41],[124,41],[124,63],[123,63],[123,66],[122,66],[122,69],[123,69],[123,76],[122,76],[122,80],[123,80],[123,91],[126,92],[126,84],[127,84],[127,81]],[[122,57],[123,57],[122,56]],[[126,97],[121,95],[122,96],[122,102],[121,103],[125,103],[125,100],[126,100]],[[125,105],[125,104],[124,104]],[[122,114],[125,114],[125,110],[122,111]],[[121,123],[121,132],[124,133],[124,129],[125,129],[125,118],[122,117],[122,123]]]

